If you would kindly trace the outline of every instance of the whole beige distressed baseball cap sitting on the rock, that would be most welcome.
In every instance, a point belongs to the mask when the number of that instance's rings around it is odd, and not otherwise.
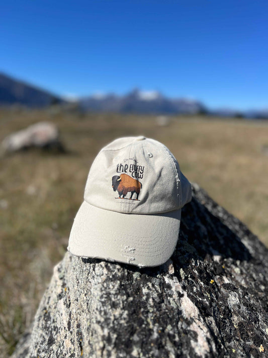
[[[123,137],[104,147],[88,174],[68,250],[77,256],[158,266],[178,240],[191,184],[160,142]]]

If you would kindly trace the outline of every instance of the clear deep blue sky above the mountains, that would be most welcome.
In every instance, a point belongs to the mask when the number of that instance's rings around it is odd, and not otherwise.
[[[268,107],[266,0],[9,0],[0,13],[0,69],[56,94]]]

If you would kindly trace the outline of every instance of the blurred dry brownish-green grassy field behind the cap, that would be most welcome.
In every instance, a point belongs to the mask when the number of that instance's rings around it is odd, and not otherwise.
[[[163,142],[190,181],[246,223],[268,245],[268,121],[79,115],[1,110],[0,140],[49,120],[68,154],[27,151],[0,158],[0,356],[8,356],[33,319],[53,265],[64,255],[85,180],[99,150],[125,135]]]

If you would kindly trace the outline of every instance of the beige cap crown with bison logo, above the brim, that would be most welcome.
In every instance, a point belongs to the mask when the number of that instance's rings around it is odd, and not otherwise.
[[[191,200],[191,185],[160,142],[123,137],[104,147],[94,160],[84,200],[122,213],[155,214],[184,206]]]

